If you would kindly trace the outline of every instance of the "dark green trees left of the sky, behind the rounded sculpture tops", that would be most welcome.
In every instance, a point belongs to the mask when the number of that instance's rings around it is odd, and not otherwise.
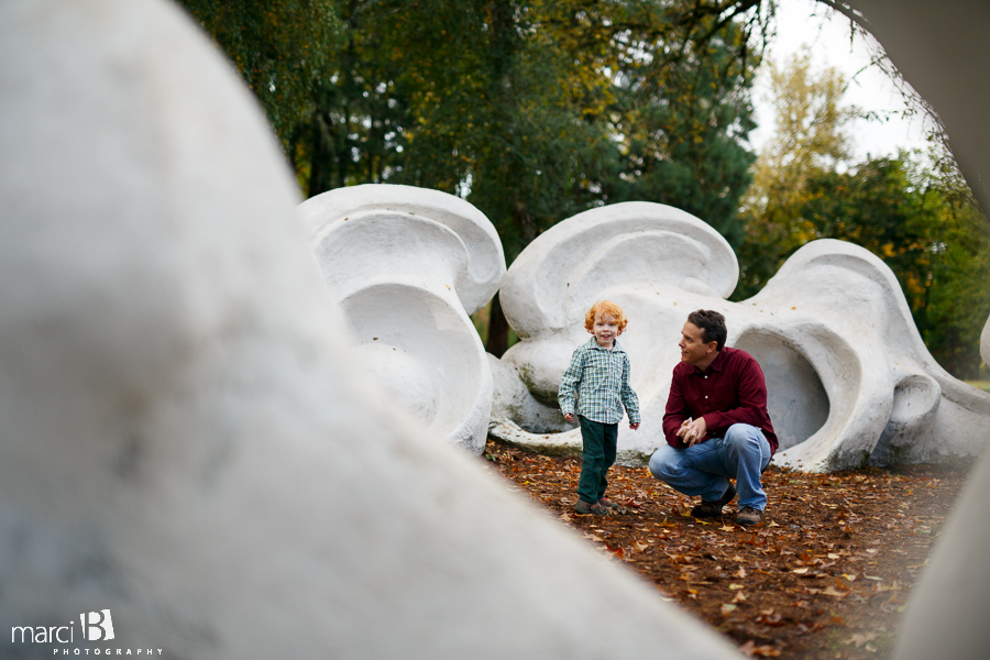
[[[626,199],[738,233],[763,0],[182,1],[262,98],[310,196],[380,182],[461,195],[509,261]],[[312,28],[314,12],[333,20]],[[491,317],[501,354],[497,301]]]

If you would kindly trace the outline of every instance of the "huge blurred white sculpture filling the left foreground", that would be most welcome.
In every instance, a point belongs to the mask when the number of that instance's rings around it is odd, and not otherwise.
[[[737,657],[393,413],[175,6],[0,3],[0,656]]]

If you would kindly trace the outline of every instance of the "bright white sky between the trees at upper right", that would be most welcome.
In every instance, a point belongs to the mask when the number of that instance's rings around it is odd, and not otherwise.
[[[768,59],[782,64],[804,45],[811,48],[816,70],[832,66],[850,80],[844,97],[846,105],[889,114],[883,122],[857,120],[851,127],[855,161],[862,161],[867,155],[893,155],[898,148],[925,148],[922,120],[906,120],[891,113],[903,110],[904,101],[882,72],[868,66],[869,44],[857,36],[850,45],[849,20],[814,0],[780,0],[777,37],[770,44]],[[867,68],[861,70],[864,67]],[[768,90],[769,76],[763,67],[754,89],[759,128],[750,134],[750,143],[757,151],[773,133]]]

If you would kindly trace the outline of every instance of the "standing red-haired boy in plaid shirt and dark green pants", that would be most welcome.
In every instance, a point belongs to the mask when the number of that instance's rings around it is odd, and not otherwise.
[[[605,498],[605,473],[615,463],[618,422],[623,406],[629,428],[639,428],[639,399],[629,386],[629,356],[616,337],[626,329],[622,308],[609,300],[595,302],[584,315],[584,328],[592,337],[578,346],[571,365],[560,382],[557,398],[568,421],[574,420],[574,391],[578,391],[578,421],[583,441],[581,480],[578,482],[579,514],[607,516],[622,507]]]

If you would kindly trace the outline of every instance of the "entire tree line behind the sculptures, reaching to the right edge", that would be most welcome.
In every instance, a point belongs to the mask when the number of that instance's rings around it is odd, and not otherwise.
[[[806,141],[801,165],[780,150],[756,162],[750,89],[773,0],[177,2],[255,92],[307,196],[363,183],[459,195],[509,262],[587,208],[669,204],[736,249],[737,297],[804,241],[865,241],[936,358],[957,375],[979,364],[961,346],[990,312],[986,292],[966,289],[986,240],[958,242],[986,219],[952,168],[933,178],[906,156],[839,167],[842,140]],[[501,355],[497,297],[490,319]]]

